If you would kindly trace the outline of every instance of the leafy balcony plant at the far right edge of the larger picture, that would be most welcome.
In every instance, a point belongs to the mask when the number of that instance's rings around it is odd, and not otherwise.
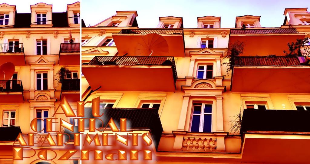
[[[303,56],[301,48],[304,48],[305,44],[309,43],[309,38],[296,39],[296,42],[287,43],[288,51],[283,51],[286,56]]]

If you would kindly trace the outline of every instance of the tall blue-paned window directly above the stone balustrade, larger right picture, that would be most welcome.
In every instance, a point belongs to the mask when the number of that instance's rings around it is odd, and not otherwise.
[[[193,104],[190,128],[192,132],[212,132],[212,104]]]

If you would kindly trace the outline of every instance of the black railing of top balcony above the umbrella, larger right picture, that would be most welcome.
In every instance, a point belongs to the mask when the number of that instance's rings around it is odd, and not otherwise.
[[[183,34],[183,29],[122,29],[119,34]]]

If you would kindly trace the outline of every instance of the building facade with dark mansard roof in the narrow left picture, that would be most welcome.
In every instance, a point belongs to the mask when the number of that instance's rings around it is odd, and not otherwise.
[[[35,133],[30,128],[34,118],[42,119],[38,121],[38,129],[46,127],[45,118],[59,119],[54,113],[63,97],[73,108],[80,100],[80,2],[68,4],[67,10],[60,13],[53,12],[52,5],[46,3],[31,5],[30,9],[31,13],[18,13],[15,6],[0,4],[0,66],[5,73],[0,75],[3,78],[0,79],[0,163],[43,162],[37,154],[23,161],[12,161],[12,144],[17,135]],[[14,65],[6,65],[7,62]],[[57,72],[61,68],[69,71],[59,81]],[[5,77],[9,75],[11,78]],[[53,123],[53,131],[63,129],[59,123]],[[41,137],[35,135],[37,144],[33,148],[44,150],[49,145],[42,144],[47,132],[37,133]],[[56,133],[51,132],[54,139]],[[72,146],[69,143],[62,148]],[[59,148],[55,151],[59,153]],[[24,157],[32,153],[26,150]],[[79,155],[73,159],[76,161],[55,159],[49,163],[78,163]]]

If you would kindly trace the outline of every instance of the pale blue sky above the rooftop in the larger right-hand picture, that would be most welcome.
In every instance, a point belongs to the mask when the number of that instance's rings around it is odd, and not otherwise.
[[[308,7],[310,0],[82,0],[81,18],[95,25],[116,14],[136,10],[139,28],[156,28],[162,16],[183,17],[184,28],[197,28],[197,17],[220,16],[221,28],[235,27],[236,16],[261,16],[262,27],[280,27],[285,8]]]

